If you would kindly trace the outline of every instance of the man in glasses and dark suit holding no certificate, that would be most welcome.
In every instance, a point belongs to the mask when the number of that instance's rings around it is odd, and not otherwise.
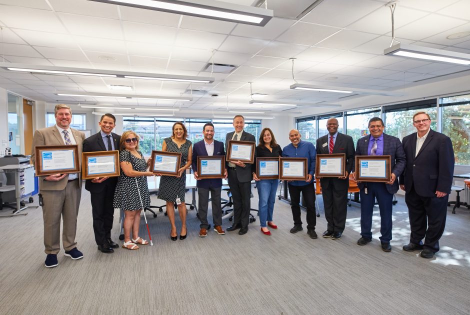
[[[422,249],[421,257],[432,258],[444,232],[455,159],[450,138],[430,128],[426,112],[415,113],[413,125],[417,132],[403,138],[406,168],[399,178],[411,228],[403,250]]]

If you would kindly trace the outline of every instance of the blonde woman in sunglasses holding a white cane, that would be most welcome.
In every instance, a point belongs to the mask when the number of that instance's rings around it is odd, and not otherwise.
[[[138,229],[140,212],[150,205],[145,176],[153,176],[153,173],[147,171],[150,161],[145,161],[142,152],[138,150],[138,141],[138,135],[132,130],[127,130],[122,133],[119,143],[121,174],[114,193],[114,207],[124,211],[122,247],[127,249],[138,249],[138,245],[148,244],[148,241],[138,236]]]

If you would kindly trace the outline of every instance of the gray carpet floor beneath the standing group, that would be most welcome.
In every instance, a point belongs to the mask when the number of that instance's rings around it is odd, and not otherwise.
[[[256,189],[253,194],[252,207],[257,208]],[[154,195],[151,200],[162,204]],[[76,236],[83,259],[72,260],[61,250],[59,265],[44,267],[40,207],[27,209],[25,216],[0,218],[0,314],[470,313],[469,211],[451,214],[448,208],[441,250],[424,259],[418,251],[401,250],[409,224],[404,199],[397,200],[389,253],[380,249],[377,238],[378,208],[374,239],[358,246],[357,203],[348,208],[340,240],[312,240],[306,228],[289,233],[290,206],[276,200],[279,229],[271,229],[271,236],[259,231],[256,220],[245,235],[210,230],[200,238],[196,212],[189,210],[187,238],[171,241],[167,217],[147,214],[153,246],[103,254],[94,243],[89,193],[83,190]],[[320,234],[326,222],[321,196],[318,201]],[[147,238],[143,217],[141,222],[140,235]],[[225,228],[230,224],[223,222]],[[119,234],[116,210],[113,239]]]

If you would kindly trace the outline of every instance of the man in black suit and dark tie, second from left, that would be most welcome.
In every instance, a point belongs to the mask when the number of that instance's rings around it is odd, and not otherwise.
[[[98,122],[100,131],[83,141],[83,152],[118,150],[121,137],[111,132],[115,123],[116,117],[113,114],[105,113],[102,115]],[[116,183],[117,177],[100,177],[85,181],[85,189],[90,192],[94,239],[98,245],[98,250],[104,253],[114,252],[112,248],[119,247],[111,239],[114,218],[112,200]]]

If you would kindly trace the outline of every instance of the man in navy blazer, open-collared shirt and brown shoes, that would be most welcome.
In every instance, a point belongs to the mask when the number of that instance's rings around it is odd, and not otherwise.
[[[220,191],[222,189],[221,178],[206,178],[199,179],[197,173],[197,156],[208,156],[208,155],[225,155],[223,149],[223,142],[214,140],[214,125],[207,122],[202,127],[204,139],[202,141],[194,143],[192,146],[192,170],[194,172],[194,178],[197,180],[197,194],[199,196],[199,220],[200,220],[200,231],[199,236],[205,237],[207,235],[207,229],[209,223],[207,221],[207,208],[209,205],[209,192],[210,200],[212,201],[212,220],[214,223],[214,231],[218,234],[225,234],[222,229],[222,208],[220,202]],[[225,165],[224,165],[225,166]],[[225,178],[227,177],[227,170],[225,169]]]

